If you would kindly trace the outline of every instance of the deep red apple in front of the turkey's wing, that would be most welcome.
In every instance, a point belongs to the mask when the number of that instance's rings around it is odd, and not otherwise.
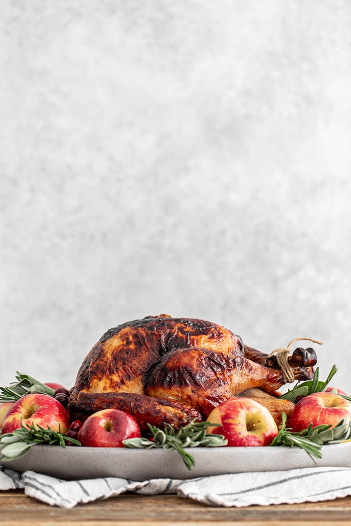
[[[123,448],[122,440],[141,437],[134,418],[119,409],[103,409],[89,416],[77,439],[91,448]]]

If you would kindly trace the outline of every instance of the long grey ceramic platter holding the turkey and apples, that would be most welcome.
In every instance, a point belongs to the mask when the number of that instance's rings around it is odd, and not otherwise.
[[[318,466],[351,468],[351,442],[322,447],[316,464],[298,448],[192,448],[195,466],[187,470],[179,454],[163,449],[34,446],[24,457],[0,462],[6,468],[44,473],[65,480],[121,477],[190,479],[224,473],[278,471]]]

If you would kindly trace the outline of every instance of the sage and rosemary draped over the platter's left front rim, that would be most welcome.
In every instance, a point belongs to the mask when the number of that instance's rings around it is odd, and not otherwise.
[[[15,429],[12,433],[5,433],[0,437],[0,460],[19,459],[36,444],[55,444],[65,447],[66,442],[71,442],[76,446],[81,445],[78,440],[67,437],[60,431],[54,431],[49,426],[47,429],[34,424],[24,426],[21,421],[21,428]]]

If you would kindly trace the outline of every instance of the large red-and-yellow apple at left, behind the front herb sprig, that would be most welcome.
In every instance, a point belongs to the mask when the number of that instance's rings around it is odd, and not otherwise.
[[[69,414],[61,403],[55,398],[39,393],[25,395],[6,412],[3,421],[2,432],[12,433],[21,427],[21,421],[26,424],[35,424],[65,434],[69,426]]]

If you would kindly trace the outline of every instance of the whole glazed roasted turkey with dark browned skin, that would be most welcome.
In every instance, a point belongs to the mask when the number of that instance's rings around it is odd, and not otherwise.
[[[288,361],[295,379],[312,377],[313,349],[296,349]],[[224,327],[147,316],[109,329],[96,343],[78,371],[68,409],[88,415],[118,408],[132,414],[141,429],[147,422],[177,428],[206,419],[219,403],[251,388],[277,400],[284,383],[274,357],[244,346]]]

